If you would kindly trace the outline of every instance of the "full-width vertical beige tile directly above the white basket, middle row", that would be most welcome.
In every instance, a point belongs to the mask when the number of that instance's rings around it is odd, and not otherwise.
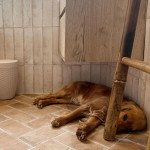
[[[14,59],[14,32],[12,28],[4,29],[5,32],[5,55],[7,59]]]

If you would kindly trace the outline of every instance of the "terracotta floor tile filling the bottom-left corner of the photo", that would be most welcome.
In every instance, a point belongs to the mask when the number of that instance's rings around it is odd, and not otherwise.
[[[0,148],[3,150],[27,150],[29,146],[6,133],[2,133],[0,134]]]

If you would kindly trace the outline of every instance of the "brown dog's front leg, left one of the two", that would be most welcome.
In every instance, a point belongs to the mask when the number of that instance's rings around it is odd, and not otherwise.
[[[89,112],[90,106],[89,105],[82,105],[79,108],[75,109],[74,111],[62,115],[60,117],[55,118],[51,124],[53,127],[60,127],[62,125],[67,124],[68,122],[71,122],[72,120],[83,116],[86,112]]]

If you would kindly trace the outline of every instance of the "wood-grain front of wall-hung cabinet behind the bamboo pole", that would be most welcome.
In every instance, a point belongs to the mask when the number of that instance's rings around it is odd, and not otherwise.
[[[143,60],[147,3],[141,2],[133,57]],[[65,60],[116,62],[128,4],[127,0],[68,0]]]

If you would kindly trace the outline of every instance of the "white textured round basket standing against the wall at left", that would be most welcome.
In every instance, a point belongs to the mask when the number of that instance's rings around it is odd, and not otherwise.
[[[18,84],[18,60],[0,60],[0,100],[12,99]]]

